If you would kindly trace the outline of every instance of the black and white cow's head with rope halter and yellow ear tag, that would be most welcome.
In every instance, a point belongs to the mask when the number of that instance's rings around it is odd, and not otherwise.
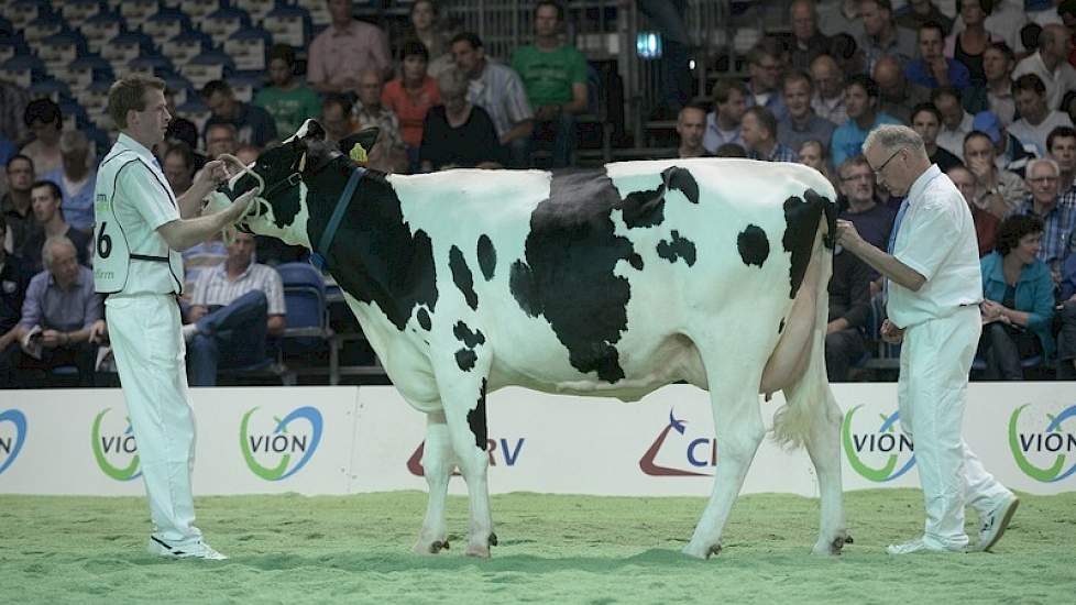
[[[359,142],[369,150],[373,146],[370,136],[369,132],[363,131],[341,141],[341,146],[350,150]],[[376,139],[376,132],[373,138]],[[241,194],[257,188],[255,205],[241,227],[260,235],[310,248],[306,229],[309,217],[307,185],[304,179],[339,156],[337,146],[326,141],[321,124],[307,120],[292,138],[262,152],[254,164],[211,194],[211,209],[223,208]]]

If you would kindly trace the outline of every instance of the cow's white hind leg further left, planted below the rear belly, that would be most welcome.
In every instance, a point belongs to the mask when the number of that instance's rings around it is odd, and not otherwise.
[[[729,360],[727,352],[724,355],[704,352],[703,363],[710,384],[720,460],[710,502],[691,541],[683,548],[684,554],[700,559],[721,552],[721,537],[728,514],[766,432],[755,388],[761,377],[762,364],[755,362],[753,366],[743,360]],[[717,367],[722,364],[723,367]]]

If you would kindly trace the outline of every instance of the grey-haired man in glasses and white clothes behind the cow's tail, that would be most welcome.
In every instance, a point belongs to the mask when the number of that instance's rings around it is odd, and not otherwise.
[[[890,546],[890,554],[989,550],[1019,499],[971,453],[962,437],[968,371],[982,330],[982,282],[971,213],[960,191],[931,164],[912,129],[885,125],[864,142],[878,183],[907,196],[888,252],[837,221],[838,242],[888,278],[888,342],[903,341],[900,424],[915,447],[926,527],[922,537]],[[969,548],[964,506],[979,514],[979,541]]]

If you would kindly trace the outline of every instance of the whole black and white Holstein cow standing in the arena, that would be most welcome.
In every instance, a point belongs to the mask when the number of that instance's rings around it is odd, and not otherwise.
[[[850,541],[822,349],[834,191],[819,173],[668,160],[397,176],[358,167],[323,138],[308,120],[213,202],[262,187],[246,226],[323,261],[393,384],[426,414],[417,552],[448,548],[457,465],[470,495],[466,553],[496,544],[487,393],[521,385],[629,402],[677,381],[710,391],[722,452],[685,553],[721,550],[765,433],[758,394],[779,389],[788,405],[775,436],[804,443],[817,469],[814,552]]]

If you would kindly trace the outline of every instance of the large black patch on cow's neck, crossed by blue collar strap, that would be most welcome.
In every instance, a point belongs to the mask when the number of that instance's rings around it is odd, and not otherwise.
[[[318,245],[352,168],[352,162],[341,155],[304,177],[310,216],[307,234],[314,245]],[[274,212],[276,207],[274,202]],[[420,229],[411,233],[399,197],[384,174],[366,172],[332,245],[320,252],[340,287],[362,302],[376,305],[398,330],[405,329],[416,307],[435,310],[438,293],[430,238]]]

